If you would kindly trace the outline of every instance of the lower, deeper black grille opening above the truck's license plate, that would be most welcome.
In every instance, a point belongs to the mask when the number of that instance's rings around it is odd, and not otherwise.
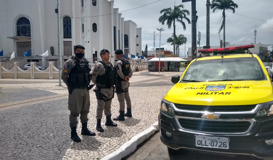
[[[195,120],[195,119],[178,119],[183,129],[189,129],[199,132],[213,133],[242,133],[250,127],[247,121],[215,121],[215,120]]]

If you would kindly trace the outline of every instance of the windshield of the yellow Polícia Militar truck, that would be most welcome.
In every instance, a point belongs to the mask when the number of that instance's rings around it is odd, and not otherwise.
[[[261,80],[266,80],[266,76],[257,58],[242,57],[194,61],[181,82]]]

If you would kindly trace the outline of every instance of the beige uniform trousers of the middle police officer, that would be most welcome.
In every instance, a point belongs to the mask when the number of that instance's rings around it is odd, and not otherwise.
[[[98,88],[96,87],[96,90],[98,90]],[[106,99],[111,99],[113,96],[113,88],[102,88],[100,89],[100,93],[102,93]],[[106,116],[111,115],[111,103],[112,103],[112,99],[108,100],[108,101],[104,101],[104,100],[97,100],[98,105],[97,105],[97,119],[101,119],[102,118],[102,113],[104,110],[104,114]]]

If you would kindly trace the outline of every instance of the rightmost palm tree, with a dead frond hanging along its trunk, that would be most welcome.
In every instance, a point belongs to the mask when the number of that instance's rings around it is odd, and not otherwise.
[[[218,31],[218,34],[224,29],[224,48],[225,48],[225,10],[232,10],[232,13],[235,13],[235,8],[238,8],[238,5],[234,3],[232,0],[212,0],[211,9],[212,13],[216,10],[223,10],[222,13],[222,24]]]

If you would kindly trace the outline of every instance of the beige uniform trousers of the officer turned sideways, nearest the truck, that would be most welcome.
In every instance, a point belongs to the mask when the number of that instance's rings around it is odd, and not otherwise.
[[[129,82],[127,81],[121,81],[121,89],[124,90],[124,93],[117,93],[117,97],[118,97],[118,102],[120,103],[120,111],[124,111],[125,110],[125,101],[126,101],[126,105],[127,108],[132,108],[131,105],[131,99],[129,96]],[[125,101],[124,101],[125,99]]]

